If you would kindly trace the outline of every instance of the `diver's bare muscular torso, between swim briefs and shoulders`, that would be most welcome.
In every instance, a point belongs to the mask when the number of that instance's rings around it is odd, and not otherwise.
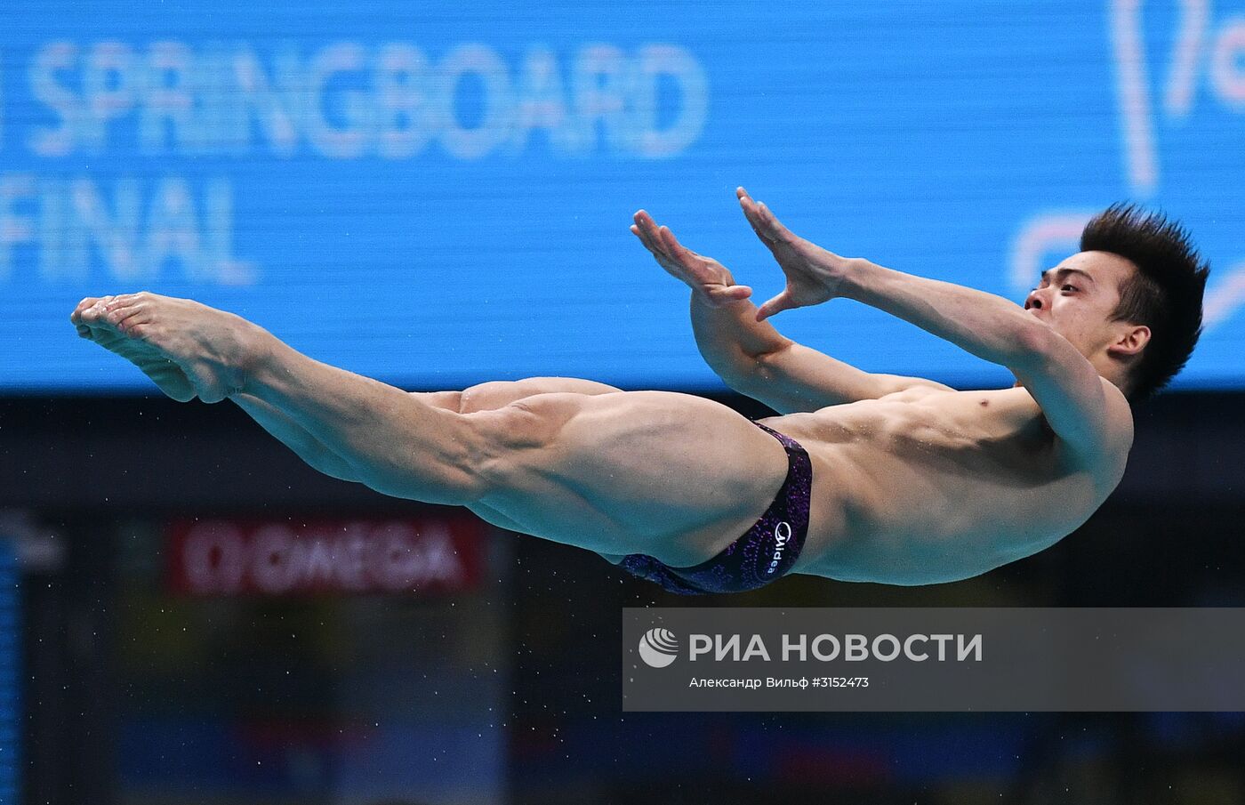
[[[916,388],[761,421],[813,461],[796,572],[844,581],[954,581],[1035,553],[1102,505],[1127,459],[1073,460],[1022,388]]]

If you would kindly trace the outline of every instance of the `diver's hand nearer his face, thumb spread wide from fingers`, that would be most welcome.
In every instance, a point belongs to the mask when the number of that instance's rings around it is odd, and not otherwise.
[[[820,304],[839,295],[838,288],[852,268],[852,258],[839,257],[797,236],[742,187],[736,188],[735,194],[752,231],[769,248],[787,275],[783,292],[757,309],[757,322],[781,310]]]

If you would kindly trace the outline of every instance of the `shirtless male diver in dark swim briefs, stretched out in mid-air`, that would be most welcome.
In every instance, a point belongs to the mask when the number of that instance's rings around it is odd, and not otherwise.
[[[787,275],[759,309],[717,260],[639,212],[631,231],[692,288],[710,366],[781,415],[533,378],[412,394],[299,354],[237,315],[149,293],[83,299],[78,334],[169,396],[232,399],[312,467],[397,497],[595,551],[681,593],[787,573],[924,584],[1046,548],[1119,483],[1130,401],[1162,388],[1201,328],[1209,268],[1162,216],[1116,206],[1020,307],[843,258],[740,204]],[[1010,369],[956,391],[868,374],[764,322],[855,299]],[[742,535],[742,536],[741,536]]]

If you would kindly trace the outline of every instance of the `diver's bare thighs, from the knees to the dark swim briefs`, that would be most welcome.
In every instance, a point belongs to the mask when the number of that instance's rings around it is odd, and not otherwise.
[[[697,564],[746,532],[787,476],[777,440],[685,394],[540,394],[481,416],[503,449],[478,503],[606,556]]]

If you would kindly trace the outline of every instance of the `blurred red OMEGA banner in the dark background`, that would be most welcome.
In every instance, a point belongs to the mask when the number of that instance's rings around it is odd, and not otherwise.
[[[483,525],[195,520],[168,525],[168,586],[187,596],[444,593],[481,583]]]

